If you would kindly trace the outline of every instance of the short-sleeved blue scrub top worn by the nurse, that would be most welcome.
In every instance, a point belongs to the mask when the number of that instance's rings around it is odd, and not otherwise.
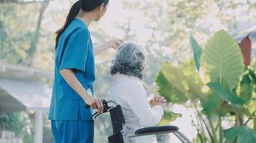
[[[63,79],[61,69],[72,69],[82,86],[93,92],[93,44],[86,24],[80,19],[74,19],[63,31],[55,51],[55,79],[48,119],[92,120],[92,109],[85,108],[83,99]]]

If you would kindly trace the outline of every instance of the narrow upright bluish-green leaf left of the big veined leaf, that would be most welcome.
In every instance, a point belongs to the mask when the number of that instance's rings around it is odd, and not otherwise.
[[[199,46],[198,42],[196,41],[196,39],[193,38],[192,35],[190,37],[190,41],[191,41],[191,46],[193,49],[193,59],[196,62],[196,69],[199,71],[202,48],[201,48],[201,46]]]

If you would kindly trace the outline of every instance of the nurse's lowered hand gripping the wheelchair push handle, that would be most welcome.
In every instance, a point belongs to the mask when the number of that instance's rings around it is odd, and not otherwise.
[[[101,99],[88,96],[85,100],[86,104],[88,104],[92,109],[97,109],[99,114],[103,113],[104,106]]]

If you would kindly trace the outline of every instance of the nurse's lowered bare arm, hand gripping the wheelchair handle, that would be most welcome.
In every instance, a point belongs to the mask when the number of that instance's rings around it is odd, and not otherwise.
[[[93,98],[90,94],[84,89],[82,84],[76,78],[74,71],[71,69],[61,69],[60,74],[63,76],[68,85],[78,93],[78,95],[86,102],[86,104],[90,105],[93,109],[98,109],[100,113],[103,112],[103,104],[101,99]]]

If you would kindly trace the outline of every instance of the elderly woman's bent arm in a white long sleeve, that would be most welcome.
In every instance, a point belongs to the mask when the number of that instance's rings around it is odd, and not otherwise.
[[[153,108],[150,107],[142,84],[134,83],[124,90],[127,94],[127,103],[132,112],[140,119],[141,124],[145,127],[152,127],[160,122],[160,119],[163,117],[163,107],[159,105]]]

